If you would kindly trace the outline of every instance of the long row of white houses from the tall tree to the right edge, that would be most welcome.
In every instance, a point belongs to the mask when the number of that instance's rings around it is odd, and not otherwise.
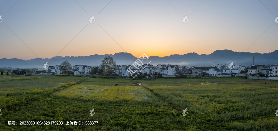
[[[179,65],[159,64],[143,65],[143,70],[137,69],[131,65],[116,65],[114,66],[114,74],[119,76],[134,76],[138,72],[147,73],[150,76],[162,75],[162,77],[179,77],[179,76],[208,76],[208,77],[230,77],[230,76],[245,76],[251,74],[251,76],[278,76],[278,65],[251,65],[251,67],[245,67],[242,65],[234,65],[231,67],[225,65],[213,65],[211,67],[186,67]],[[244,71],[244,72],[242,72]]]

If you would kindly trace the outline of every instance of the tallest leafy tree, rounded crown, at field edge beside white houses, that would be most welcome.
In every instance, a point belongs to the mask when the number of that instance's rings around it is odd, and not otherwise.
[[[109,75],[114,71],[114,66],[116,65],[115,60],[111,56],[105,56],[104,59],[101,61],[102,65],[105,66],[105,68],[102,68],[105,73]]]

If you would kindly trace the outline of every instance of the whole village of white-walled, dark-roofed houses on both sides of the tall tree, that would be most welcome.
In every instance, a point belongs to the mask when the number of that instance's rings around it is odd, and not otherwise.
[[[61,65],[49,66],[48,73],[44,74],[64,74],[63,70],[60,68]],[[135,76],[138,72],[146,73],[147,77],[179,77],[187,78],[188,76],[196,76],[201,78],[215,78],[215,77],[246,77],[248,79],[264,79],[264,80],[278,80],[278,65],[251,65],[250,67],[245,67],[242,65],[228,66],[223,65],[213,65],[211,67],[187,67],[180,65],[170,65],[170,64],[158,64],[156,66],[152,64],[143,65],[145,68],[137,69],[131,65],[115,65],[113,72],[110,76],[123,76],[131,77]],[[133,67],[133,68],[130,68]],[[90,75],[95,67],[87,65],[75,65],[70,70],[74,72],[74,75]],[[101,67],[98,67],[101,69]],[[129,69],[130,68],[130,69]],[[132,70],[132,72],[130,72]]]

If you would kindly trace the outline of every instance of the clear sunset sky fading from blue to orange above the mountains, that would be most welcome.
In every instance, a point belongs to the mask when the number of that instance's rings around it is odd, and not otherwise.
[[[0,0],[0,59],[272,52],[277,6],[277,0]]]

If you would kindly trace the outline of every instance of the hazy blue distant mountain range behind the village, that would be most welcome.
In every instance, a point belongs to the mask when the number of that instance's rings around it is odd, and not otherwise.
[[[44,63],[48,62],[49,66],[61,64],[63,61],[68,60],[71,65],[85,64],[89,66],[99,66],[105,56],[111,56],[115,59],[117,65],[131,65],[137,57],[130,53],[120,52],[114,55],[89,55],[89,56],[55,56],[50,59],[0,59],[0,67],[19,67],[19,68],[43,68]],[[255,64],[273,65],[278,64],[278,50],[271,53],[250,53],[250,52],[234,52],[231,50],[216,50],[209,55],[199,55],[197,53],[187,53],[184,55],[170,55],[170,56],[150,56],[149,60],[152,60],[150,64],[177,64],[185,66],[212,66],[217,64],[227,64],[231,62],[240,64],[243,66],[250,66],[253,63],[253,57],[255,56]],[[144,61],[145,62],[145,61]]]

